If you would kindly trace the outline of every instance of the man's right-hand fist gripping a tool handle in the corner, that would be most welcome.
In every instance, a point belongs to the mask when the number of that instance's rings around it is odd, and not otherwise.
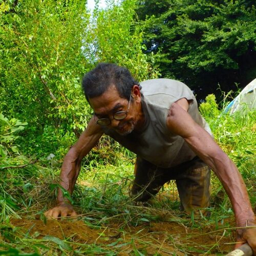
[[[250,227],[253,226],[253,227]],[[256,221],[249,222],[248,227],[237,230],[237,244],[234,247],[237,249],[242,243],[247,242],[253,250],[253,255],[256,255]]]

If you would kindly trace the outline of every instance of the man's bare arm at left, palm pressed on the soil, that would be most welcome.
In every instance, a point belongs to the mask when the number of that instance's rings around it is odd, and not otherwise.
[[[87,129],[81,134],[76,144],[65,156],[61,167],[59,185],[68,190],[71,195],[80,172],[82,158],[91,151],[102,134],[101,127],[95,124],[92,118]],[[47,217],[58,218],[76,215],[72,205],[69,200],[63,196],[60,188],[58,189],[56,205],[56,207],[45,212]]]

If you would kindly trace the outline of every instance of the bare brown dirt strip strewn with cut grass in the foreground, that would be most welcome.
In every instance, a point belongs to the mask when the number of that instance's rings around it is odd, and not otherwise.
[[[174,252],[176,255],[199,255],[211,247],[211,253],[232,250],[232,245],[227,244],[232,242],[232,237],[224,230],[215,231],[214,227],[199,230],[178,222],[152,221],[136,227],[127,225],[122,229],[115,222],[92,228],[82,220],[48,220],[44,224],[31,217],[12,219],[11,223],[24,233],[29,232],[34,239],[52,236],[79,244],[94,244],[118,255],[131,255],[134,250],[145,255],[173,255]]]

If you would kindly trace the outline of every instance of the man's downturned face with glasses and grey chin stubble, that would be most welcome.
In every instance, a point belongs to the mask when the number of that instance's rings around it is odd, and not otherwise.
[[[114,129],[120,135],[130,134],[135,129],[137,124],[135,102],[131,99],[129,108],[129,100],[121,98],[115,86],[111,86],[102,95],[89,99],[89,101],[96,121],[101,118],[109,118],[111,122],[106,126]],[[113,115],[119,111],[128,111],[127,116],[122,120],[113,118]]]

